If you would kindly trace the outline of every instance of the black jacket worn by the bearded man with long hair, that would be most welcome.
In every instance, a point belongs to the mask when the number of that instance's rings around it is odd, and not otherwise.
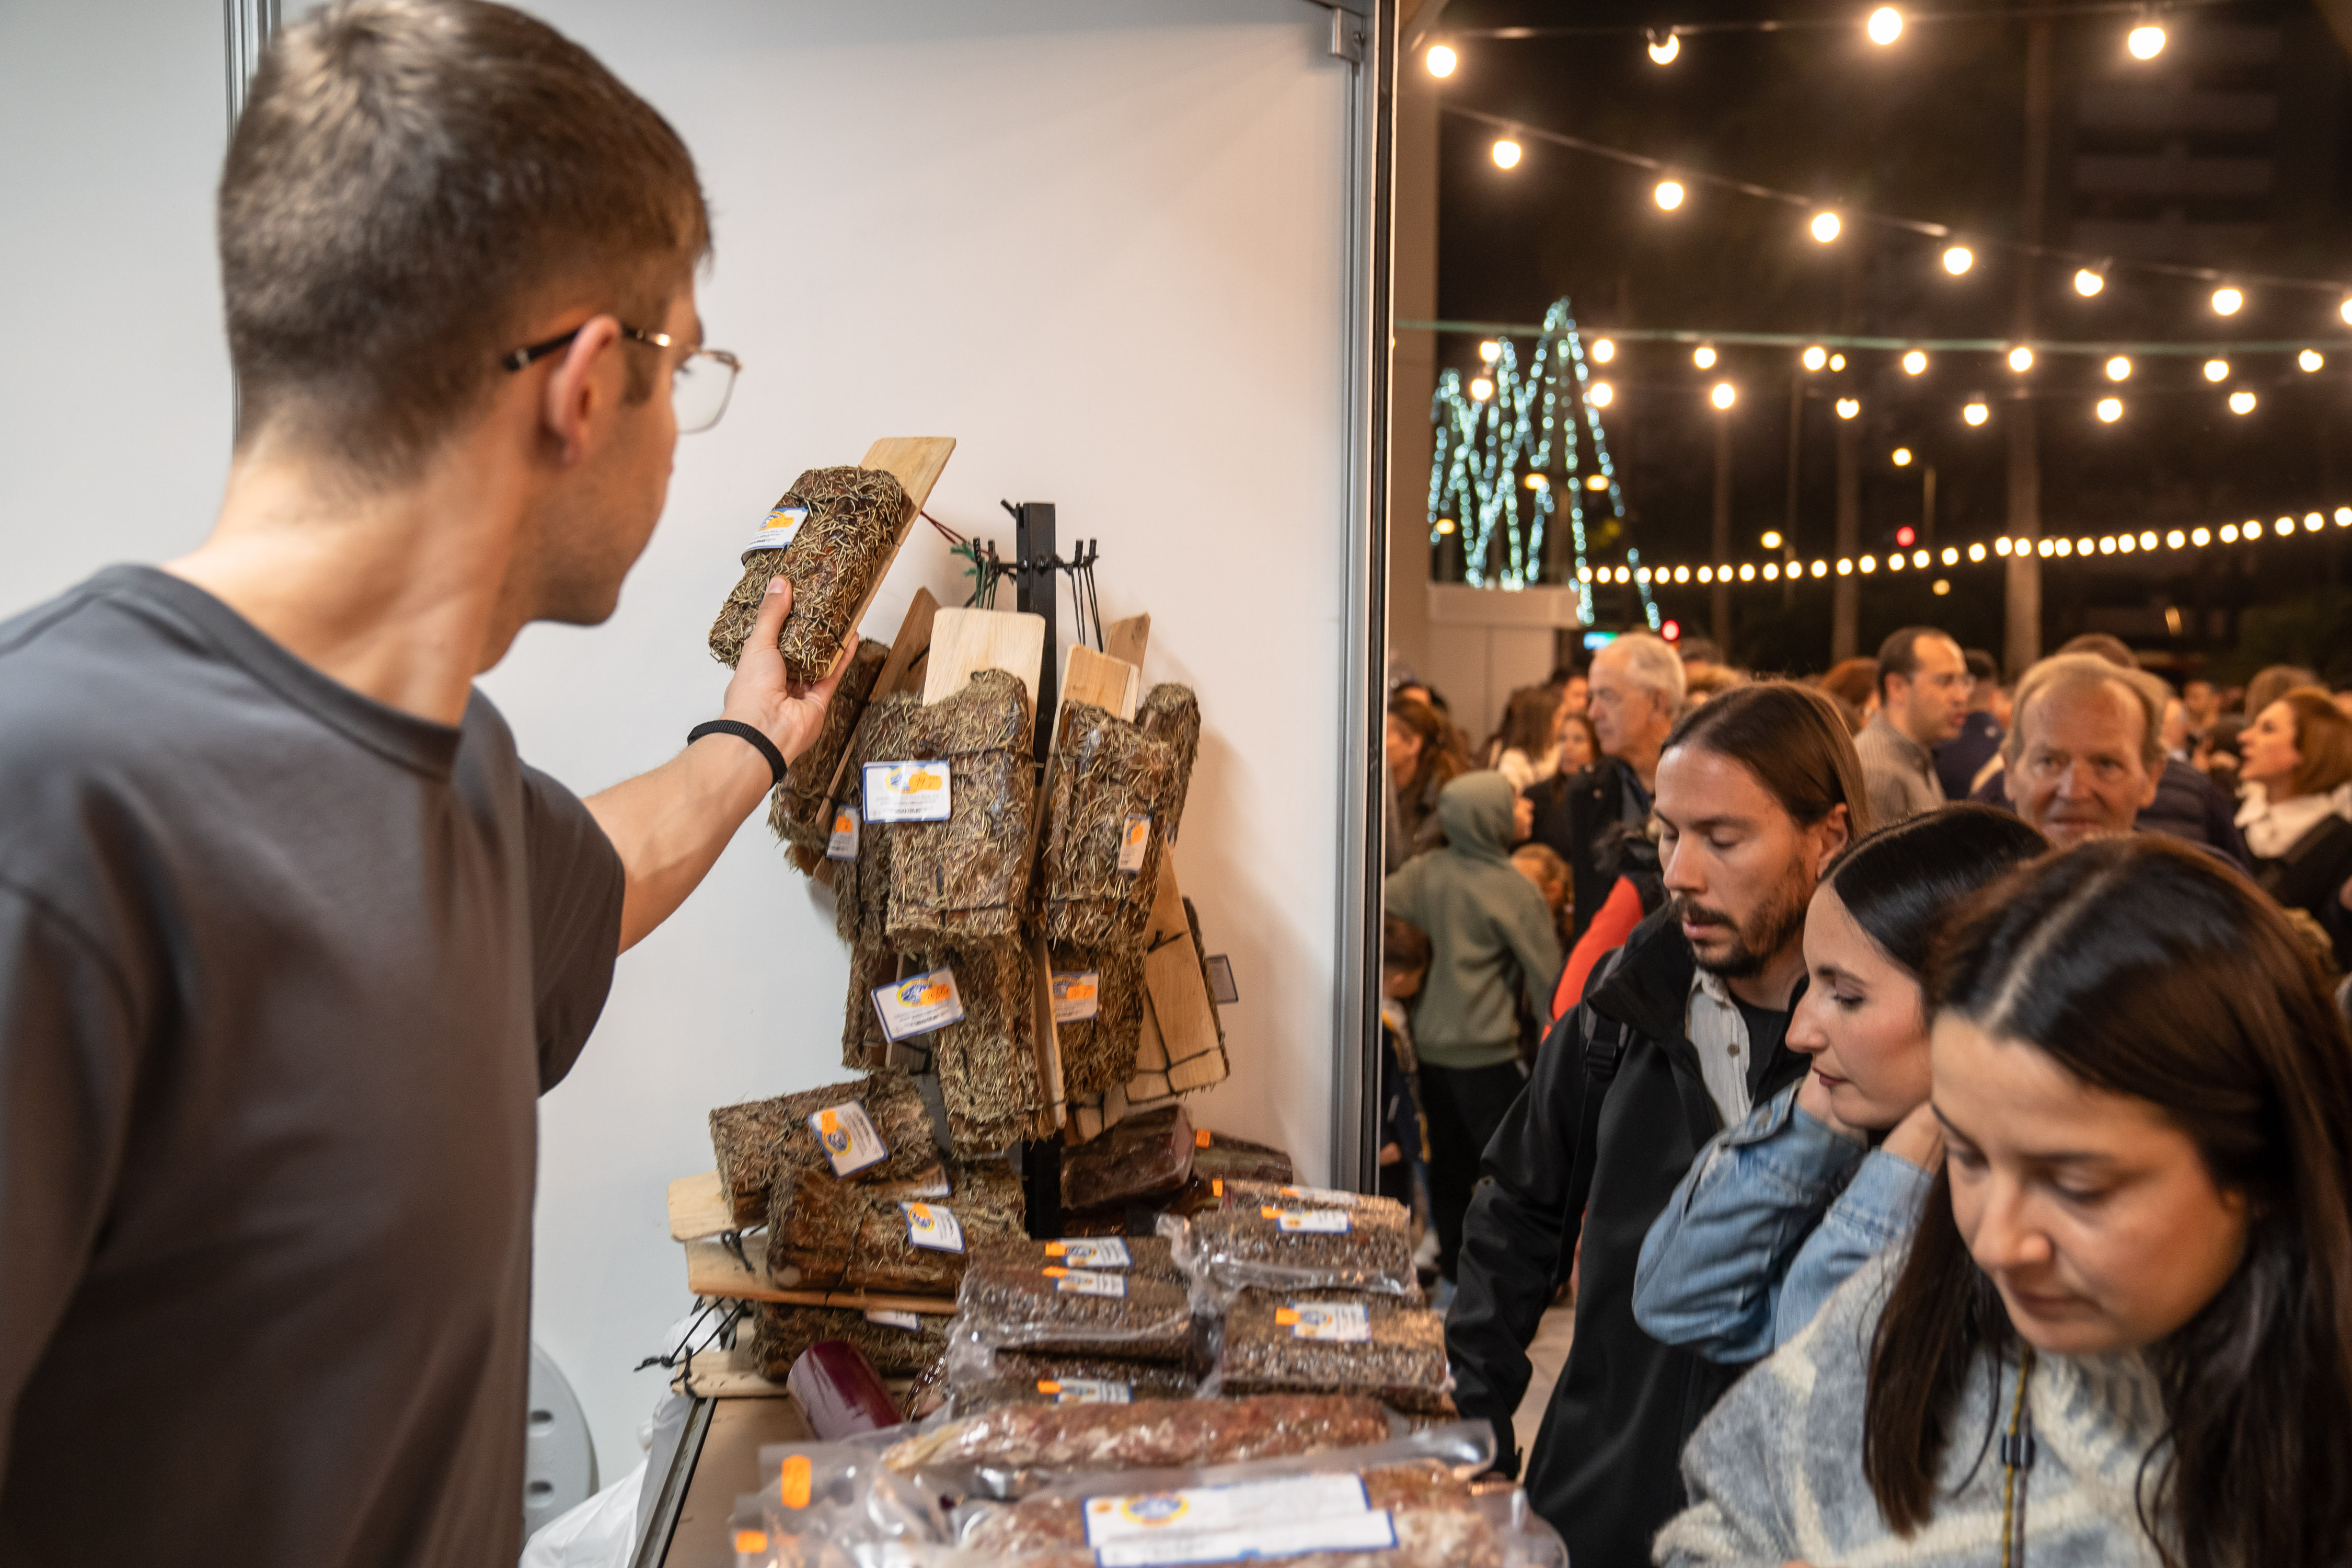
[[[1684,1505],[1682,1443],[1740,1368],[1651,1340],[1632,1321],[1632,1272],[1651,1220],[1698,1150],[1722,1128],[1684,1037],[1693,959],[1670,910],[1644,919],[1623,957],[1536,1053],[1526,1091],[1486,1145],[1463,1222],[1458,1293],[1446,1316],[1454,1401],[1494,1422],[1503,1469],[1517,1472],[1510,1415],[1526,1392],[1526,1345],[1583,1234],[1576,1340],[1543,1413],[1526,1493],[1590,1568],[1646,1563],[1649,1540]],[[1588,1046],[1623,1044],[1585,1150]],[[1804,1074],[1778,1046],[1750,1063],[1762,1103]],[[1578,1208],[1578,1175],[1590,1194]]]

